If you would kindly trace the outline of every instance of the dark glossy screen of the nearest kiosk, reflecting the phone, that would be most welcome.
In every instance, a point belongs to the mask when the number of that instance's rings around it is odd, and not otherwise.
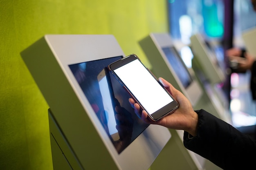
[[[134,113],[128,100],[130,94],[112,74],[109,74],[109,80],[104,75],[103,79],[99,79],[104,68],[121,58],[122,56],[118,56],[69,65],[94,110],[94,113],[88,114],[97,115],[100,126],[103,126],[118,153],[148,127]]]

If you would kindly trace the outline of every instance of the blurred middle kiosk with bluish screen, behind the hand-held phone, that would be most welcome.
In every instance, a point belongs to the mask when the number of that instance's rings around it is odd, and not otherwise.
[[[181,91],[190,100],[195,110],[203,108],[211,113],[215,109],[205,95],[193,70],[188,69],[184,64],[168,33],[150,33],[140,40],[139,44],[152,65],[151,71],[156,77],[163,77]],[[180,143],[183,142],[182,130],[173,130],[171,133],[172,138],[176,135],[178,138],[175,139]],[[180,152],[183,153],[186,160],[191,161],[190,169],[220,169],[209,160],[187,150],[184,146],[180,147]],[[171,168],[173,167],[170,165],[169,169]],[[179,169],[179,167],[174,169]]]

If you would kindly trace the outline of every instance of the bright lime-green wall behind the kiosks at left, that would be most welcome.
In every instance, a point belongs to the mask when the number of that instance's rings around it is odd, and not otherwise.
[[[168,31],[165,0],[0,0],[0,169],[51,170],[47,103],[20,51],[45,34],[113,34],[150,67],[138,40]]]

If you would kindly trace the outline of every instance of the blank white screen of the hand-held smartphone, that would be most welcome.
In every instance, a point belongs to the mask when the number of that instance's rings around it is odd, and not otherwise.
[[[139,60],[134,60],[114,71],[150,115],[173,102],[170,95]]]

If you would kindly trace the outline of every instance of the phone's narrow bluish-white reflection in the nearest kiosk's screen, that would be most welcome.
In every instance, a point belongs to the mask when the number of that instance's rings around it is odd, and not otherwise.
[[[99,89],[101,92],[103,107],[107,117],[107,126],[112,141],[118,141],[120,139],[119,132],[116,128],[117,120],[115,118],[115,96],[111,84],[110,73],[108,68],[105,67],[97,76],[99,82]]]

